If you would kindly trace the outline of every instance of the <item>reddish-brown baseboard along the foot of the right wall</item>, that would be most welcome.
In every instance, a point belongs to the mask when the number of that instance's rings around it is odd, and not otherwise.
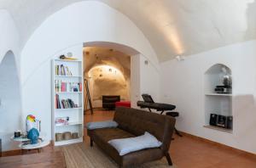
[[[180,131],[179,131],[179,132],[180,132]],[[209,139],[206,139],[206,138],[204,138],[204,137],[198,137],[198,136],[189,134],[189,133],[187,133],[187,132],[181,132],[181,133],[182,133],[184,136],[186,136],[186,137],[195,138],[196,140],[200,140],[200,141],[205,142],[205,143],[211,143],[212,145],[216,145],[216,146],[218,146],[218,147],[220,147],[220,148],[225,148],[225,149],[232,150],[232,151],[234,151],[234,152],[236,152],[236,153],[238,153],[238,154],[245,154],[245,155],[247,155],[247,156],[249,156],[249,157],[255,158],[255,160],[256,160],[256,154],[253,154],[253,153],[250,153],[250,152],[241,150],[241,149],[239,149],[239,148],[233,148],[233,147],[227,146],[227,145],[225,145],[225,144],[223,144],[223,143],[217,143],[217,142],[211,141],[211,140],[209,140]]]

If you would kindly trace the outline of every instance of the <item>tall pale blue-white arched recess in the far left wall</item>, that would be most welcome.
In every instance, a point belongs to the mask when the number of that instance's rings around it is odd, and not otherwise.
[[[20,81],[11,51],[5,54],[0,64],[0,138],[3,151],[15,148],[10,141],[13,132],[21,128]]]

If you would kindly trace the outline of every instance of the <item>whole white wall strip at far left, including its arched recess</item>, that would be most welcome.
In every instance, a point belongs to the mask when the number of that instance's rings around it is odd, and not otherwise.
[[[0,25],[0,138],[5,151],[17,147],[10,136],[20,129],[20,37],[4,9],[0,9]]]

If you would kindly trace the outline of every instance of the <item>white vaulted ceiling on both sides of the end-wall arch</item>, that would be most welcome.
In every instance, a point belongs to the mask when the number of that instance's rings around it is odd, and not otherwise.
[[[23,44],[55,11],[81,0],[0,0]],[[256,38],[255,0],[96,0],[143,31],[160,61]],[[92,16],[93,17],[93,16]]]

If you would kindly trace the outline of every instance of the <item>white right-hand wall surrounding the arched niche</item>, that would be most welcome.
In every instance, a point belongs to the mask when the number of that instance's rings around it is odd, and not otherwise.
[[[255,47],[256,41],[243,42],[160,64],[161,100],[177,105],[177,129],[256,153]],[[213,64],[226,64],[232,70],[233,134],[203,127],[204,73]]]

